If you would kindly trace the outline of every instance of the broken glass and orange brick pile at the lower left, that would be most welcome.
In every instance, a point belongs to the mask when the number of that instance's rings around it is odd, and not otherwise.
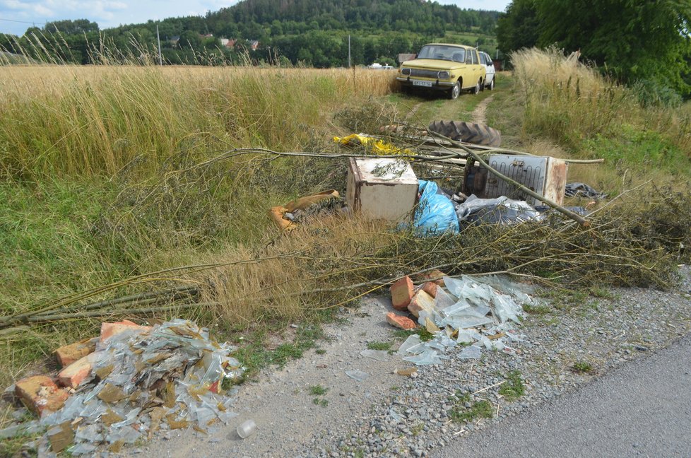
[[[223,396],[223,381],[243,372],[229,356],[234,350],[182,319],[154,327],[104,323],[95,351],[59,374],[59,382],[76,392],[69,395],[45,376],[17,382],[20,399],[40,415],[23,428],[47,428],[40,453],[73,456],[102,445],[119,450],[159,429],[206,431],[235,416],[232,397]]]

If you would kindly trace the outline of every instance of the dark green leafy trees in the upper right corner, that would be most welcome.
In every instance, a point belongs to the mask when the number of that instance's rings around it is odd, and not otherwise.
[[[497,22],[503,52],[556,44],[624,83],[691,95],[691,2],[513,0]]]

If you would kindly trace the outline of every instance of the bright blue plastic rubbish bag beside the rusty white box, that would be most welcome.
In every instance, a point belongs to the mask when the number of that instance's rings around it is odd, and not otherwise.
[[[415,233],[423,236],[459,233],[454,204],[447,196],[439,194],[437,183],[419,180],[418,193],[421,195],[413,219]]]

